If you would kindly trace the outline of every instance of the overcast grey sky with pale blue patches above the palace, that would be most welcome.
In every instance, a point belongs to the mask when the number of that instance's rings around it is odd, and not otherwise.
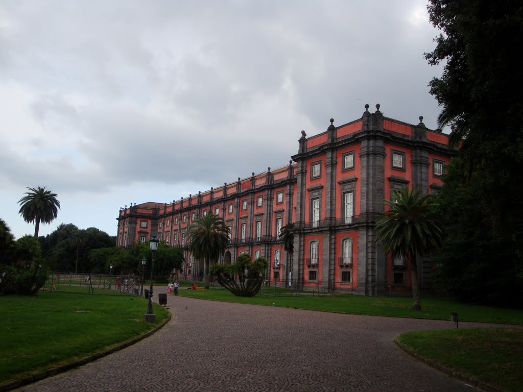
[[[26,187],[61,223],[116,235],[130,203],[172,202],[288,165],[301,131],[364,105],[437,128],[420,0],[2,0],[0,217]]]

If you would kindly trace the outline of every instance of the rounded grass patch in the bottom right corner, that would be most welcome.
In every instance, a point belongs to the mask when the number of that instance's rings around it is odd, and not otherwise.
[[[523,390],[523,329],[474,328],[407,332],[408,351],[472,381]]]

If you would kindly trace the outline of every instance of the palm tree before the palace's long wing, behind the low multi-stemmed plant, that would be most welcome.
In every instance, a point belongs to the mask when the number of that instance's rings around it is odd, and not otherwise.
[[[229,246],[229,227],[214,214],[199,216],[187,228],[189,250],[198,260],[204,260],[205,287],[209,287],[211,262],[216,262]]]

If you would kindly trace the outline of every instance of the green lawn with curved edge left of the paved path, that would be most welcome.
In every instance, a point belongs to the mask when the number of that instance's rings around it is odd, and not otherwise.
[[[168,316],[154,305],[156,322],[148,324],[142,319],[146,308],[146,299],[127,295],[0,297],[0,384],[104,351]]]

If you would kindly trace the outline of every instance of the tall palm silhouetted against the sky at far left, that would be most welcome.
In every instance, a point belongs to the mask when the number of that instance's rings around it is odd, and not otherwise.
[[[30,192],[25,192],[26,196],[18,200],[20,211],[24,221],[27,223],[35,222],[35,237],[38,237],[40,222],[51,223],[58,216],[60,202],[56,199],[56,193],[46,187],[29,188]]]

